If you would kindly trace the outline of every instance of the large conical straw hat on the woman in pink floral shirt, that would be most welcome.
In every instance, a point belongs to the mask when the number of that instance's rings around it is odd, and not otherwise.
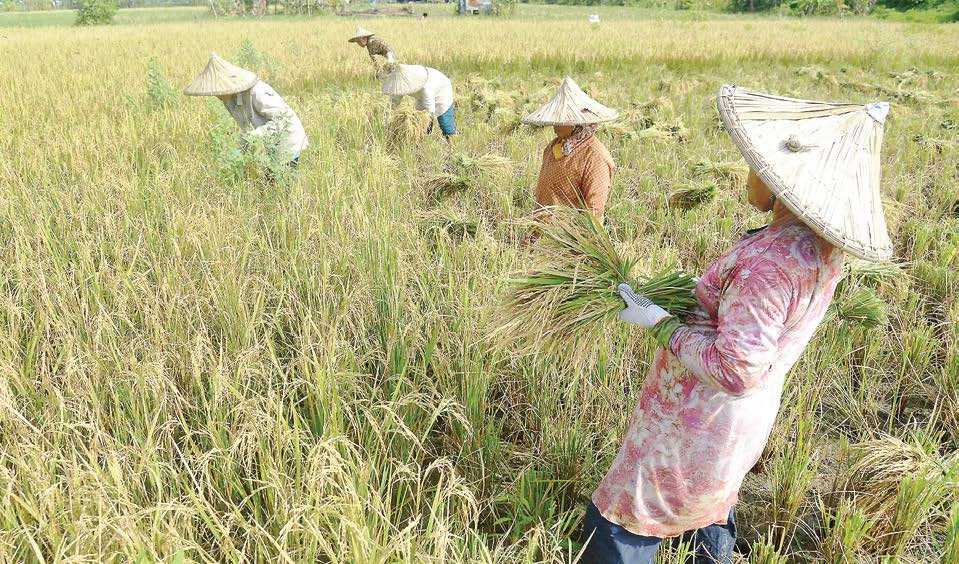
[[[889,104],[838,104],[719,91],[719,115],[746,162],[806,225],[872,261],[892,256],[879,194]]]

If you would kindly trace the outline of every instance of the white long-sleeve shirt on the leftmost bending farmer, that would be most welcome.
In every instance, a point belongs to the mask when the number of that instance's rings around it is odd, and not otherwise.
[[[256,136],[279,133],[279,149],[288,160],[300,156],[309,145],[306,130],[296,112],[263,81],[234,95],[224,105],[244,133]]]

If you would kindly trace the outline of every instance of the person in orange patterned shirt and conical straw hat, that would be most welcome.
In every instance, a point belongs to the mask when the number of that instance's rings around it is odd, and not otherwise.
[[[552,100],[523,118],[523,123],[553,126],[556,137],[543,151],[536,183],[537,214],[550,206],[569,206],[602,217],[616,170],[595,133],[617,113],[593,100],[566,77]]]

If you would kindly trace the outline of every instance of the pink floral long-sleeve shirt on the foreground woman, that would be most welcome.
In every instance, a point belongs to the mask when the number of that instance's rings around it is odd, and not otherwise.
[[[701,309],[657,351],[593,503],[633,533],[725,523],[762,454],[786,372],[832,301],[842,252],[793,216],[739,241],[696,288]]]

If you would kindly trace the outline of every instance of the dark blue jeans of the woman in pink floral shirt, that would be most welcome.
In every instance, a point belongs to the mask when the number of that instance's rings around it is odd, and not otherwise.
[[[583,552],[583,564],[653,564],[663,539],[644,537],[608,521],[590,502],[583,522],[583,540],[589,539]],[[729,512],[725,525],[710,525],[689,531],[683,540],[691,541],[696,564],[732,564],[736,546],[736,509]]]

